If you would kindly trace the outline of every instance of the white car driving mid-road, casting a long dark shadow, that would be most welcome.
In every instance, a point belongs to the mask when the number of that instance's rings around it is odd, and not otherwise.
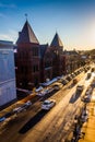
[[[55,105],[56,105],[56,100],[54,100],[54,99],[46,99],[46,100],[44,100],[44,103],[41,104],[41,109],[49,110],[49,109],[52,108]]]

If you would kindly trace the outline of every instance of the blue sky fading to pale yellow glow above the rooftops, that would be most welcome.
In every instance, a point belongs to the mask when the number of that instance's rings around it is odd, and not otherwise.
[[[67,50],[95,48],[95,0],[0,0],[0,39],[16,42],[25,13],[40,44],[57,32]]]

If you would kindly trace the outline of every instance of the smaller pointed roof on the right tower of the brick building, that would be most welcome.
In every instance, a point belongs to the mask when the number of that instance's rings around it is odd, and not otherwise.
[[[50,46],[52,46],[52,47],[63,47],[63,44],[62,44],[58,33],[56,33]]]

